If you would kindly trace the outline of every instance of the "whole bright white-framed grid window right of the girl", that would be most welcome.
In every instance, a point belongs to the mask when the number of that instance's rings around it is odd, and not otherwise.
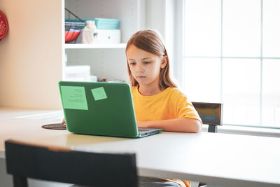
[[[223,123],[280,128],[280,1],[186,0],[183,88]]]

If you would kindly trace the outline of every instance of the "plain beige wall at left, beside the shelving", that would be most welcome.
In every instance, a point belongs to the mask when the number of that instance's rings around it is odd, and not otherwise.
[[[0,41],[0,106],[60,109],[62,2],[1,0],[9,31]]]

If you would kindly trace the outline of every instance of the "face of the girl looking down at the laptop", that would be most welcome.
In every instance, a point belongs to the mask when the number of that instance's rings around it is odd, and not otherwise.
[[[163,56],[148,53],[132,45],[127,49],[127,62],[139,85],[159,85],[160,69],[166,65]]]

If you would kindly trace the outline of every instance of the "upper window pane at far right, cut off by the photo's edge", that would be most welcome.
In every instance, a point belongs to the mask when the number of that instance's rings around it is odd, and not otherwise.
[[[263,1],[263,56],[280,57],[280,1]]]

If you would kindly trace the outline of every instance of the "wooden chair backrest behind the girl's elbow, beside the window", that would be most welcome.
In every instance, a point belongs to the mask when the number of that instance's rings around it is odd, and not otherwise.
[[[208,124],[208,132],[217,132],[217,125],[222,125],[223,104],[193,102],[203,124]]]

